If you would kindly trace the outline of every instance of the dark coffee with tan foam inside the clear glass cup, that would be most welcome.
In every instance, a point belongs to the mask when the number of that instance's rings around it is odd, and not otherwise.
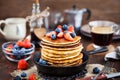
[[[97,26],[91,30],[92,41],[99,46],[107,46],[112,41],[113,29],[111,27]]]

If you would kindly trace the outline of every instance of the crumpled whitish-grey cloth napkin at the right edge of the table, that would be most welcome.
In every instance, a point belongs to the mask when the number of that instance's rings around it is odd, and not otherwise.
[[[107,61],[108,59],[120,60],[120,46],[116,47],[114,51],[106,54],[104,59],[105,61]]]

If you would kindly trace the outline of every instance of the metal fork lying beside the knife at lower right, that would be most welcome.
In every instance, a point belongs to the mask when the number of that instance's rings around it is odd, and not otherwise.
[[[113,62],[110,61],[106,62],[104,68],[92,80],[96,80],[97,77],[101,74],[108,74],[112,67],[113,67]]]

